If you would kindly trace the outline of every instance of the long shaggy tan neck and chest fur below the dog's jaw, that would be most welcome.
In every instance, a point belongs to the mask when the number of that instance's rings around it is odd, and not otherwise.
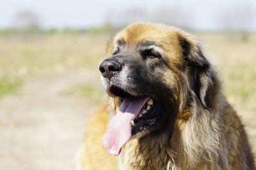
[[[213,162],[219,161],[221,150],[222,107],[210,112],[198,103],[194,101],[186,110],[191,113],[188,119],[178,115],[170,129],[131,139],[118,158],[120,169],[216,169]]]

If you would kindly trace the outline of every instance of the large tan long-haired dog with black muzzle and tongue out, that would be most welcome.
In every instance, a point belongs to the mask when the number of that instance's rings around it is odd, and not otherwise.
[[[88,120],[77,169],[255,169],[244,125],[196,38],[136,23],[107,53],[99,70],[109,103]]]

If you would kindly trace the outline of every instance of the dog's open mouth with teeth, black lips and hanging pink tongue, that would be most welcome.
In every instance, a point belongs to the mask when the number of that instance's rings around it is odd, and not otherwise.
[[[122,146],[132,136],[143,136],[156,127],[161,107],[150,96],[134,96],[113,85],[108,92],[110,96],[120,97],[122,103],[115,116],[111,118],[102,142],[111,155],[119,155]]]

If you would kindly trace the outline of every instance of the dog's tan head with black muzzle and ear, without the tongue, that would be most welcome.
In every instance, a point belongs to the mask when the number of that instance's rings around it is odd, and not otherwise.
[[[201,71],[209,67],[208,62],[189,38],[179,29],[144,23],[130,25],[109,42],[109,57],[99,69],[116,108],[124,99],[148,97],[132,121],[133,136],[163,131],[175,118],[189,117],[179,115],[191,100],[189,90],[207,107],[199,76],[204,75]]]

